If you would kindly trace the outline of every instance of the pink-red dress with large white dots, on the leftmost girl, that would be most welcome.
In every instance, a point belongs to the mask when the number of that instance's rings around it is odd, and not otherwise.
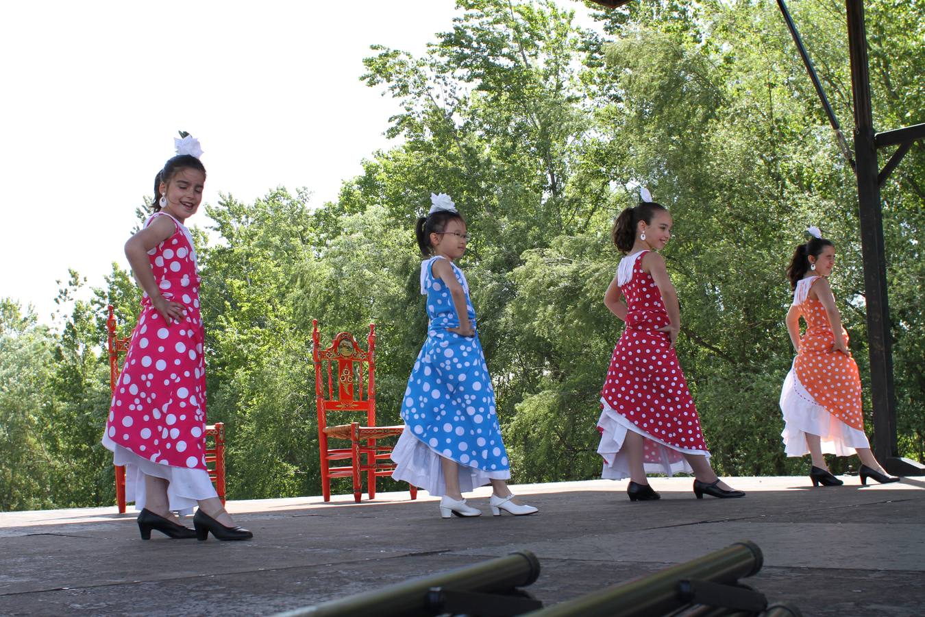
[[[156,213],[144,223],[147,227]],[[190,512],[197,500],[216,497],[205,467],[205,364],[199,310],[199,274],[189,230],[148,252],[154,280],[166,300],[186,315],[166,323],[147,293],[132,331],[129,352],[113,393],[103,445],[126,465],[126,496],[144,507],[144,475],[169,481],[170,509]]]

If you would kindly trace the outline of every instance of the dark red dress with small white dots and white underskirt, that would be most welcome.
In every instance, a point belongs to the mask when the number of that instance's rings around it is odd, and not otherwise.
[[[709,457],[671,338],[659,331],[671,321],[658,286],[642,269],[646,253],[624,257],[617,271],[628,314],[601,390],[598,420],[601,476],[613,480],[630,475],[623,452],[627,431],[644,438],[648,474],[691,473],[683,454]]]

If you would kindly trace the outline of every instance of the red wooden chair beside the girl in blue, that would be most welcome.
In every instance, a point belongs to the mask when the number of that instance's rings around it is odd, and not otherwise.
[[[351,477],[353,499],[359,502],[363,496],[361,476],[365,474],[369,499],[376,499],[376,477],[391,475],[395,469],[395,463],[389,459],[391,446],[378,445],[376,440],[399,436],[404,430],[404,426],[376,426],[376,325],[369,325],[369,337],[366,339],[368,347],[364,352],[348,332],[340,332],[331,341],[330,347],[322,349],[318,320],[314,319],[312,324],[322,493],[325,501],[330,501],[331,478]],[[336,386],[333,377],[335,373]],[[351,422],[327,426],[328,413],[361,413],[364,414],[365,424]],[[350,440],[350,447],[328,448],[328,439]],[[335,466],[336,462],[348,464]],[[410,489],[411,499],[417,499],[417,488]]]

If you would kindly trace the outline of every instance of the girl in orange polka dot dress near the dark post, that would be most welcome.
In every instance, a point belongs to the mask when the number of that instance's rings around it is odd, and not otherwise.
[[[809,478],[813,486],[842,484],[829,472],[823,453],[861,460],[861,484],[872,477],[878,482],[899,478],[886,474],[870,451],[861,415],[861,381],[857,364],[848,350],[848,334],[835,307],[828,276],[835,263],[835,247],[809,228],[813,238],[796,247],[787,267],[794,288],[794,302],[787,312],[787,331],[796,348],[793,368],[783,382],[784,450],[787,456],[812,457]],[[807,323],[800,337],[800,317]]]

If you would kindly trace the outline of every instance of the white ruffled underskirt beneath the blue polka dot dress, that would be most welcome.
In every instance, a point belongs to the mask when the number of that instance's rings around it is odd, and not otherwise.
[[[422,488],[432,497],[443,497],[447,494],[447,485],[443,480],[443,469],[440,466],[443,458],[425,442],[414,437],[411,430],[404,430],[392,450],[391,459],[395,463],[392,478],[407,482],[413,487]],[[511,478],[510,469],[492,472],[475,469],[464,463],[456,462],[456,464],[459,468],[460,492],[462,493],[483,487],[491,480]]]

